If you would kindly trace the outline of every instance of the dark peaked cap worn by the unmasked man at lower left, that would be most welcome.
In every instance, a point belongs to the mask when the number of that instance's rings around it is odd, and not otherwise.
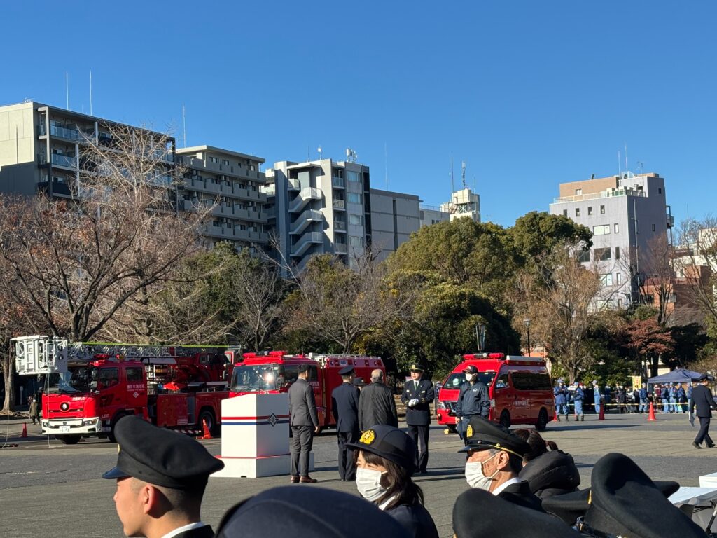
[[[196,440],[156,426],[136,415],[115,425],[117,466],[103,478],[132,476],[155,486],[174,489],[203,487],[209,475],[224,468]]]

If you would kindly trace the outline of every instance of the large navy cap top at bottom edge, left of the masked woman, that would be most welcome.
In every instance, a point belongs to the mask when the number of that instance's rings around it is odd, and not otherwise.
[[[408,538],[397,519],[356,495],[314,486],[280,486],[233,506],[217,538]]]

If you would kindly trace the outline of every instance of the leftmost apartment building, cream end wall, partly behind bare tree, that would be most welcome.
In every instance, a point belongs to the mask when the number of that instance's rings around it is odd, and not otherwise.
[[[112,128],[120,125],[34,101],[0,106],[0,192],[71,197],[80,181],[82,144],[89,137],[111,147]],[[175,141],[166,141],[156,179],[171,184]]]

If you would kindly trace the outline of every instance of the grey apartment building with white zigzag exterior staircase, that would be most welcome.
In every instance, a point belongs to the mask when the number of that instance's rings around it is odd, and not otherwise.
[[[371,244],[369,166],[320,159],[280,161],[266,171],[272,255],[299,270],[312,255],[337,255],[349,266]]]

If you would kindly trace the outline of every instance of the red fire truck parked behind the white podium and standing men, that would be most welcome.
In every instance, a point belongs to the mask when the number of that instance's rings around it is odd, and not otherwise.
[[[288,392],[298,375],[298,368],[308,364],[308,382],[313,386],[319,425],[336,425],[331,412],[331,391],[341,384],[338,371],[351,365],[356,377],[371,378],[371,371],[380,369],[386,374],[380,357],[363,355],[289,355],[286,351],[265,354],[245,353],[244,361],[234,366],[230,395],[247,392]]]

